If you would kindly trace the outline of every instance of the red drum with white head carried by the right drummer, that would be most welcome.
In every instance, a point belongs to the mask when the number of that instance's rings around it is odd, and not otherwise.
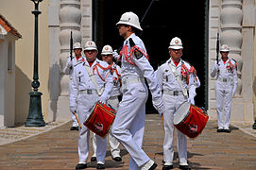
[[[190,138],[196,138],[205,127],[209,116],[189,102],[184,102],[174,114],[174,125]]]

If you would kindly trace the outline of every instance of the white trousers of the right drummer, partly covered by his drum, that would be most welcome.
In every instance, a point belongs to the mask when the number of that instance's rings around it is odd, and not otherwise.
[[[173,162],[174,159],[174,113],[178,110],[179,106],[187,101],[184,95],[162,95],[162,102],[165,107],[165,112],[163,113],[163,127],[164,127],[164,141],[163,141],[163,161]],[[187,139],[184,134],[182,134],[177,129],[177,147],[179,152],[179,164],[187,164]]]

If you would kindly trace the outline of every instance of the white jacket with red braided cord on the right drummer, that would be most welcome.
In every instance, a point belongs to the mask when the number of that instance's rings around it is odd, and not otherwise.
[[[197,87],[196,75],[194,74],[193,70],[191,70],[192,66],[182,59],[180,59],[178,66],[175,65],[172,59],[168,59],[158,68],[156,72],[159,82],[162,82],[160,83],[161,89],[163,91],[178,91],[181,93],[179,82],[176,80],[176,77],[174,76],[169,64],[176,67],[177,74],[179,75],[183,88],[188,90],[190,98],[194,98],[196,96]]]

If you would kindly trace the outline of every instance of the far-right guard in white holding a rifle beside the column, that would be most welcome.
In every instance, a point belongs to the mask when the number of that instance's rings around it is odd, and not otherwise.
[[[215,60],[211,76],[217,76],[215,81],[216,107],[218,117],[217,132],[230,133],[231,98],[234,97],[237,87],[236,61],[228,57],[230,49],[227,44],[220,48],[221,59]],[[224,122],[222,110],[224,108]]]

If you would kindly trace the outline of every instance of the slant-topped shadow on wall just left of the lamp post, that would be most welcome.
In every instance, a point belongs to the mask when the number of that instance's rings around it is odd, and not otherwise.
[[[15,124],[26,122],[29,109],[31,80],[15,65]]]

